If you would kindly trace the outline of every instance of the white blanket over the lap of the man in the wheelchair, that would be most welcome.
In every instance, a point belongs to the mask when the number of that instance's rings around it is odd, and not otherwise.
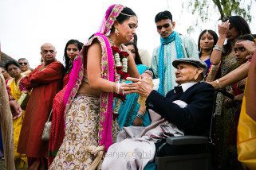
[[[175,103],[180,107],[187,106],[183,101],[175,101]],[[118,133],[116,143],[108,148],[104,156],[102,170],[142,170],[148,162],[154,160],[155,142],[169,136],[184,135],[182,130],[161,118],[160,114],[153,110],[149,110],[149,113],[152,118],[151,125],[124,127]]]

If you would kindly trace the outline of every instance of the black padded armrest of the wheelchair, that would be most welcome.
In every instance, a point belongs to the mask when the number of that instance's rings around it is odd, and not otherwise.
[[[179,137],[167,137],[166,143],[169,145],[191,145],[191,144],[207,144],[207,137],[202,136],[179,136]]]

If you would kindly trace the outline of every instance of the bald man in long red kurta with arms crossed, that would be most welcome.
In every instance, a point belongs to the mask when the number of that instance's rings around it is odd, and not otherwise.
[[[53,98],[61,90],[63,72],[63,65],[55,59],[56,51],[52,44],[45,43],[41,46],[41,56],[44,64],[39,65],[21,81],[32,92],[26,106],[18,153],[28,156],[31,169],[47,168],[45,158],[48,142],[42,141],[41,135],[53,106]]]

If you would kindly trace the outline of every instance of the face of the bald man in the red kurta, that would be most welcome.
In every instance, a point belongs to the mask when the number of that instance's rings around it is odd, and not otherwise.
[[[53,45],[44,44],[41,47],[41,57],[43,58],[46,65],[55,61],[56,51]]]

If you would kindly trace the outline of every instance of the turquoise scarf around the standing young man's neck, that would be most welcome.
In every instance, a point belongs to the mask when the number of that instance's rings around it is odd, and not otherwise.
[[[177,54],[177,59],[183,58],[183,46],[182,46],[182,40],[179,37],[179,33],[173,31],[171,35],[167,38],[161,37],[161,45],[160,45],[160,51],[159,51],[159,60],[158,60],[158,75],[160,78],[160,85],[158,92],[161,95],[164,95],[164,81],[167,81],[166,88],[170,89],[172,87],[172,81],[171,79],[175,79],[174,77],[171,77],[171,42],[175,41],[175,50]],[[167,59],[167,64],[164,64],[164,59]],[[167,75],[165,79],[165,76]]]

